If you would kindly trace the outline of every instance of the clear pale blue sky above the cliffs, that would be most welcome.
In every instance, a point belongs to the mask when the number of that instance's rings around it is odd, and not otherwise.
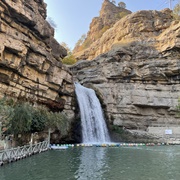
[[[111,0],[110,0],[111,1]],[[136,12],[138,10],[162,10],[172,7],[178,0],[122,0],[126,9]],[[83,34],[87,34],[89,25],[94,17],[99,16],[103,0],[44,0],[47,4],[47,16],[50,17],[57,28],[55,39],[65,42],[73,50],[76,42]],[[121,0],[116,0],[116,4]]]

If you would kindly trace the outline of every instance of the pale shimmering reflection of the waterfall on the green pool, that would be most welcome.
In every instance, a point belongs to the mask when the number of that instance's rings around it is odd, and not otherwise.
[[[78,180],[103,179],[103,174],[108,168],[105,162],[106,151],[106,148],[83,148],[75,178]]]

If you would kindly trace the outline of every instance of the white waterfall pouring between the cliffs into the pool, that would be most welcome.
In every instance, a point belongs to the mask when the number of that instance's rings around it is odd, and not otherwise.
[[[94,90],[75,83],[81,114],[83,143],[110,142],[99,99]]]

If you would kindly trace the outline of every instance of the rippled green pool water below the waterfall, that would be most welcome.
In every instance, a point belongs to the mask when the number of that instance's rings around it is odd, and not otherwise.
[[[179,180],[180,146],[75,147],[0,167],[0,180]]]

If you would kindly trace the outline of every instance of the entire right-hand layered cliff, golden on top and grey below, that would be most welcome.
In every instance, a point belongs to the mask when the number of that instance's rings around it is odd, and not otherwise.
[[[152,127],[180,125],[179,37],[180,23],[169,9],[139,11],[118,21],[81,57],[99,56],[71,70],[97,92],[110,124],[158,134]]]

